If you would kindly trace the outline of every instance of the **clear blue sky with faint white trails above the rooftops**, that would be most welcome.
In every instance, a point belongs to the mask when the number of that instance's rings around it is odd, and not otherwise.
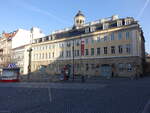
[[[0,0],[0,4],[0,34],[39,27],[49,35],[72,27],[78,10],[86,22],[114,14],[134,17],[144,31],[146,52],[150,53],[150,0]]]

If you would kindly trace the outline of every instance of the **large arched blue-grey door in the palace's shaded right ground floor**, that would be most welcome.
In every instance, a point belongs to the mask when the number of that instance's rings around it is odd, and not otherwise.
[[[111,77],[112,76],[112,67],[108,64],[102,65],[101,66],[101,76]]]

